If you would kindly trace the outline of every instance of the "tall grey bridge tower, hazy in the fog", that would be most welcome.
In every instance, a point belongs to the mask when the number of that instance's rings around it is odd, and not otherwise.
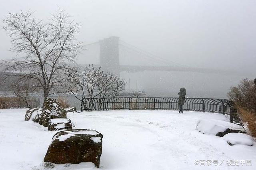
[[[100,41],[100,66],[105,71],[119,75],[119,37]]]

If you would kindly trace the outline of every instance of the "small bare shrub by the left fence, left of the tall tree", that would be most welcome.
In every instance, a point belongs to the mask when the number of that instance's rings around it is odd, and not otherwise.
[[[28,83],[27,81],[23,82],[18,79],[18,81],[10,85],[9,88],[12,93],[26,103],[28,108],[32,108],[30,97],[32,93],[35,93],[38,90],[36,85]]]

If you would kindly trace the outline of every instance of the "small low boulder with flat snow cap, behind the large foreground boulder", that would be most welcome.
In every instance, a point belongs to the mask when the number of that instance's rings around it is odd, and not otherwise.
[[[50,119],[48,130],[72,129],[70,119]]]

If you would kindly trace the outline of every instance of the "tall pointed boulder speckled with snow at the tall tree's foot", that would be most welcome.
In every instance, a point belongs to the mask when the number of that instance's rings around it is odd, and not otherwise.
[[[67,112],[62,108],[61,104],[56,100],[49,98],[44,104],[44,110],[39,118],[40,125],[49,126],[50,119],[67,118]]]

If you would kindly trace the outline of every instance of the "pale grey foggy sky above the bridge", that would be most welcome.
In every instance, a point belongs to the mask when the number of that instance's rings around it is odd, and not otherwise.
[[[183,65],[256,71],[255,0],[0,0],[0,4],[2,19],[9,12],[30,9],[45,20],[59,6],[82,24],[78,40],[85,44],[118,36]],[[16,56],[10,47],[10,38],[1,29],[0,59]],[[83,52],[78,59],[98,62]],[[226,79],[225,91],[239,79]],[[193,83],[190,86],[194,88]]]

